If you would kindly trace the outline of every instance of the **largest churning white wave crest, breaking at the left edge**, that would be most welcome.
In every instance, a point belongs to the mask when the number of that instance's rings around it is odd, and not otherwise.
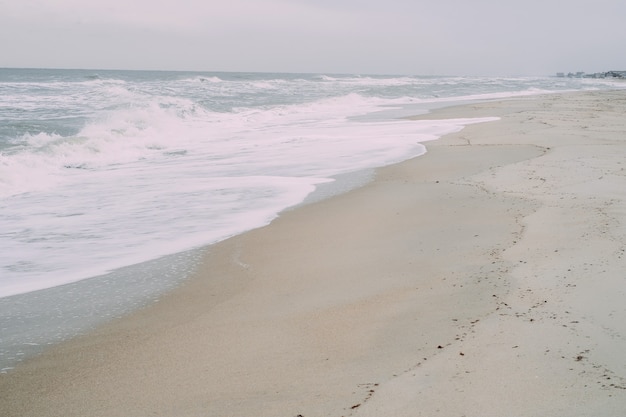
[[[0,154],[0,196],[47,189],[91,170],[185,152],[198,109],[184,99],[152,101],[102,113],[72,136],[39,133]]]

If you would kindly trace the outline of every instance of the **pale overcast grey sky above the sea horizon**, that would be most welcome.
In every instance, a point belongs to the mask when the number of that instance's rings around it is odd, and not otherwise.
[[[626,70],[624,0],[0,0],[0,67]]]

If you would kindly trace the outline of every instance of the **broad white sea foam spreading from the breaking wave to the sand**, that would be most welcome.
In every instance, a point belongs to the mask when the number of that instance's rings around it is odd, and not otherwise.
[[[150,103],[4,156],[3,295],[59,285],[271,221],[315,184],[418,155],[470,121],[350,122],[358,95],[217,115]],[[170,102],[170,104],[172,104]],[[347,104],[350,106],[347,107]],[[350,111],[341,109],[349,108]],[[62,272],[62,273],[59,273]]]

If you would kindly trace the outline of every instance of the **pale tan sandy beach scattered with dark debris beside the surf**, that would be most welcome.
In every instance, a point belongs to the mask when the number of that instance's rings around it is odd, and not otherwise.
[[[2,416],[623,416],[626,91],[499,117],[214,245],[0,375]]]

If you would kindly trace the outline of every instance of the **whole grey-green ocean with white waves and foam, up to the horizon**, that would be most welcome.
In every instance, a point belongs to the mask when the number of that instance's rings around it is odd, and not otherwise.
[[[202,248],[486,120],[610,80],[0,69],[0,370],[152,302]]]

